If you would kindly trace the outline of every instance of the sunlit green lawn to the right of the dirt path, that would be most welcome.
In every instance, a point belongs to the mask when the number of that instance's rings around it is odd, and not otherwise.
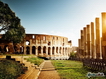
[[[79,61],[70,60],[52,60],[61,79],[88,79],[87,73],[92,72],[83,67]],[[104,77],[93,77],[90,79],[106,79]]]

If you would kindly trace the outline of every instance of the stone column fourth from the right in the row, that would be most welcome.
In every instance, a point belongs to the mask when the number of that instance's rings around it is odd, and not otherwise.
[[[87,54],[88,58],[91,58],[91,34],[90,34],[90,25],[87,25]]]

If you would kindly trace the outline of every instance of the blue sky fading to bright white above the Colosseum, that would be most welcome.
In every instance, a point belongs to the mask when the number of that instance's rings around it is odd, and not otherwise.
[[[80,30],[106,12],[106,0],[1,0],[21,19],[26,33],[67,37],[78,46]]]

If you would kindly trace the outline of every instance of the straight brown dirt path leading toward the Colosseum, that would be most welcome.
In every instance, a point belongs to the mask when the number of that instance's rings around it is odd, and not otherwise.
[[[38,79],[60,79],[50,60],[46,60]]]

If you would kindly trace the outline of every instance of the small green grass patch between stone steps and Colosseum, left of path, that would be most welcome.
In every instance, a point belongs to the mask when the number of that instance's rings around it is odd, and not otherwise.
[[[29,58],[25,58],[27,61],[34,63],[35,65],[40,65],[43,62],[43,59],[39,58],[39,57],[34,57],[31,56]]]

